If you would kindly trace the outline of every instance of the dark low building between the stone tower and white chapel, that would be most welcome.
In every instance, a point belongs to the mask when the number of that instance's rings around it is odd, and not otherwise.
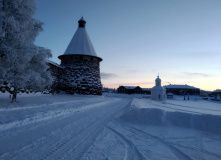
[[[125,94],[142,94],[142,88],[139,86],[120,86],[117,92]]]

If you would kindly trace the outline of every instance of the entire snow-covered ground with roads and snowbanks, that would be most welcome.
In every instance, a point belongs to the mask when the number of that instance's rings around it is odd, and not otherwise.
[[[221,104],[0,95],[0,160],[219,160]]]

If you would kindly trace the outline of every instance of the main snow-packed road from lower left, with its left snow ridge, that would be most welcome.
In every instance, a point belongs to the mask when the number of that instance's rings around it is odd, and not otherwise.
[[[60,107],[56,104],[57,108],[49,105],[47,110],[38,107],[35,115],[27,111],[35,118],[9,122],[6,126],[10,127],[0,126],[0,159],[80,159],[107,123],[127,109],[130,99],[95,101],[76,100],[68,105],[59,104]],[[81,107],[77,107],[78,103]],[[24,123],[27,119],[28,123]]]

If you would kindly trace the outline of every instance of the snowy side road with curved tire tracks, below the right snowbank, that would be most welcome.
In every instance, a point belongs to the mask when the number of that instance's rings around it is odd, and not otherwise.
[[[220,160],[221,137],[192,129],[111,122],[83,160]]]

